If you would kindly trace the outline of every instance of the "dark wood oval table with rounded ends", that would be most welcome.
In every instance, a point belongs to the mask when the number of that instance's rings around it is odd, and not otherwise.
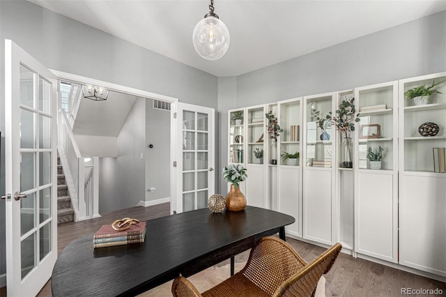
[[[189,277],[249,250],[263,236],[295,222],[290,215],[246,206],[208,208],[148,220],[145,243],[93,248],[93,234],[72,241],[52,272],[57,296],[135,296],[178,275]]]

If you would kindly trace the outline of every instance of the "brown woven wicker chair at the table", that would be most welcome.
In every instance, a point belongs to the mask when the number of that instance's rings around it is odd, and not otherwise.
[[[307,264],[288,243],[261,238],[252,248],[245,268],[208,291],[199,293],[185,277],[176,277],[176,297],[314,296],[319,279],[330,271],[341,251],[336,243]]]

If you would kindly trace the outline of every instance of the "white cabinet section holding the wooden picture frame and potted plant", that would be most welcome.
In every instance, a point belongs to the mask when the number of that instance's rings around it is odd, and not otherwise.
[[[397,262],[397,82],[355,89],[355,252]],[[374,161],[380,166],[374,167]]]

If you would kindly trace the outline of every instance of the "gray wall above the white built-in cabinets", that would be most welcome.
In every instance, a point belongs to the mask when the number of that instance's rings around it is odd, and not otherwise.
[[[227,109],[343,91],[445,70],[446,12],[443,11],[240,75],[236,79],[220,78],[220,165],[228,162]],[[220,174],[222,192],[226,187]]]

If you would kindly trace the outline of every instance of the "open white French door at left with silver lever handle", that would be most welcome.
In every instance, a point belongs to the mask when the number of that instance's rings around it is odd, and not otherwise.
[[[5,40],[8,296],[36,296],[57,258],[56,77]]]

